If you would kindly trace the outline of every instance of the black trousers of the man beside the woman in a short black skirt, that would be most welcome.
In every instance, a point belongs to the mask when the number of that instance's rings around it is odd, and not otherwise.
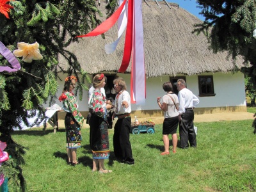
[[[194,111],[193,109],[186,110],[182,114],[182,120],[179,124],[180,129],[180,147],[188,148],[188,142],[191,147],[196,147],[196,133],[194,129]]]

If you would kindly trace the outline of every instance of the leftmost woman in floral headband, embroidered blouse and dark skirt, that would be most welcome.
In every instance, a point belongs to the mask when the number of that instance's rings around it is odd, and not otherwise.
[[[65,79],[63,93],[59,100],[63,101],[63,110],[67,112],[65,116],[65,129],[67,139],[68,164],[75,166],[77,161],[77,148],[81,147],[84,117],[78,111],[77,99],[72,91],[76,87],[77,78],[70,76]]]

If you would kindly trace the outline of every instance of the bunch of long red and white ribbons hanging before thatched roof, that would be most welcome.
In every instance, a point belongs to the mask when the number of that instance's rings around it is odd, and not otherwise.
[[[131,102],[144,105],[146,98],[144,47],[143,47],[143,23],[141,1],[120,0],[119,8],[111,17],[102,22],[97,28],[86,35],[76,37],[97,36],[112,28],[118,20],[118,39],[105,45],[107,53],[115,51],[116,46],[126,28],[124,54],[118,72],[125,72],[132,56],[131,68]]]

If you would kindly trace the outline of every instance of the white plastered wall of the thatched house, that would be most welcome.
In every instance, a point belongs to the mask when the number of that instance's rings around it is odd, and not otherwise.
[[[199,97],[198,91],[198,76],[186,76],[186,83],[188,89],[191,90],[199,99],[200,103],[197,108],[211,108],[211,107],[227,107],[227,106],[246,106],[245,90],[244,90],[244,76],[241,72],[235,74],[232,73],[204,73],[200,75],[212,75],[214,82],[214,93],[215,96],[211,97]],[[118,76],[123,77],[127,83],[127,91],[130,92],[130,74],[118,74]],[[67,74],[60,74],[63,81],[59,81],[59,90],[57,97],[61,95],[64,79]],[[132,111],[136,110],[154,110],[159,109],[157,105],[157,97],[162,97],[165,92],[163,90],[163,83],[169,81],[169,76],[149,78],[146,81],[147,92],[146,92],[146,102],[145,106],[137,106],[132,104]],[[83,91],[83,99],[79,100],[79,95],[77,95],[77,100],[79,103],[79,111],[88,111],[88,96],[87,91]],[[61,102],[56,100],[56,104],[61,106]],[[45,105],[45,107],[47,107]]]

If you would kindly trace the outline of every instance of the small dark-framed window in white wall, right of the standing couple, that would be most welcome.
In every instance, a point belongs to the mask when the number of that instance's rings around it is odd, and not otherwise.
[[[202,90],[203,85],[204,85],[204,84],[202,84],[202,81],[201,81],[202,78],[205,78],[205,79],[210,78],[211,79],[210,83],[205,84],[205,87],[204,87],[205,91]],[[209,86],[207,87],[208,84],[210,84],[210,87]],[[198,90],[199,90],[199,97],[215,96],[216,93],[214,93],[213,76],[198,76]]]

